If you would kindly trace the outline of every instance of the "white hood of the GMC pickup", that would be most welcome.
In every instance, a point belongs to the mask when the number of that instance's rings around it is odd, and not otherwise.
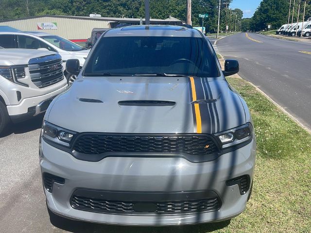
[[[46,50],[0,49],[0,64],[6,66],[27,65],[31,58],[51,54],[55,54],[55,52]]]

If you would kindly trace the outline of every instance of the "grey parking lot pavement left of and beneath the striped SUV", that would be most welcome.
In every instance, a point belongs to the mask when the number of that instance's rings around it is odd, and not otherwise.
[[[209,232],[230,221],[184,227],[126,227],[60,217],[50,219],[43,192],[38,143],[43,116],[12,125],[0,136],[0,233],[179,233]]]

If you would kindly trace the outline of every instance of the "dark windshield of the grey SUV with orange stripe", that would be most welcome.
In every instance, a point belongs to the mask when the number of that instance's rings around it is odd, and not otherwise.
[[[84,76],[139,74],[220,76],[202,37],[102,37],[84,72]]]

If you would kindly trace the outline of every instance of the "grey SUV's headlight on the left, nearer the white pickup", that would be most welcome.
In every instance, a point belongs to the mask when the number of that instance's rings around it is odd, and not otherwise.
[[[76,132],[63,129],[47,121],[43,122],[41,129],[41,136],[44,139],[66,147],[70,147],[70,142],[74,138],[75,134]]]

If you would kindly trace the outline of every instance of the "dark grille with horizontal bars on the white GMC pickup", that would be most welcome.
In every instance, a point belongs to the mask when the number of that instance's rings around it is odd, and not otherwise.
[[[50,86],[64,79],[62,60],[52,60],[28,66],[32,82],[39,88]]]

